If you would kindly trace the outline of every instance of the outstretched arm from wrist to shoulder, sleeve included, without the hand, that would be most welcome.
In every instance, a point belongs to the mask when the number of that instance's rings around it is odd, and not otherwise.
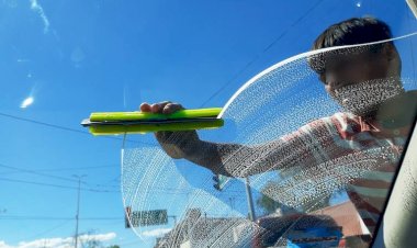
[[[313,127],[314,126],[314,127]],[[328,159],[325,147],[333,140],[323,121],[260,145],[224,144],[195,139],[183,146],[183,158],[228,177],[248,177],[298,165],[317,165]]]

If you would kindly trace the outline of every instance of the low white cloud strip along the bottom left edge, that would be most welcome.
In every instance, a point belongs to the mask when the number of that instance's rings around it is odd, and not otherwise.
[[[108,234],[86,234],[79,236],[79,241],[84,243],[88,240],[109,241],[116,237],[115,233]],[[32,241],[20,241],[16,246],[8,245],[5,241],[0,240],[0,248],[74,248],[74,237],[67,238],[42,238]]]

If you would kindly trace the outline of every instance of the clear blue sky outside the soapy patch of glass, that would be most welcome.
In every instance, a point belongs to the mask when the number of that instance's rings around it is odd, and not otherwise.
[[[1,1],[0,247],[72,236],[74,174],[86,174],[80,233],[148,246],[124,228],[122,140],[86,135],[80,121],[143,101],[223,106],[259,71],[308,50],[328,25],[363,14],[394,36],[417,31],[398,0]]]

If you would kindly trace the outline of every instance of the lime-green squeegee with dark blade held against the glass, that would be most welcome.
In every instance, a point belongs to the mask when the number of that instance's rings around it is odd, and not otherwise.
[[[81,122],[93,135],[145,134],[159,131],[191,131],[217,128],[224,125],[217,119],[222,108],[180,110],[172,114],[145,112],[91,113]]]

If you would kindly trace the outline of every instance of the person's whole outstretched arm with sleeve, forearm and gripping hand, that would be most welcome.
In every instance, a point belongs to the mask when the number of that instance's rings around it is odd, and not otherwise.
[[[178,103],[143,103],[142,111],[172,113],[183,109]],[[195,131],[157,132],[155,136],[172,158],[184,158],[214,173],[248,177],[297,165],[323,162],[328,158],[324,147],[333,134],[323,121],[313,122],[298,131],[260,145],[222,144],[201,140]]]

